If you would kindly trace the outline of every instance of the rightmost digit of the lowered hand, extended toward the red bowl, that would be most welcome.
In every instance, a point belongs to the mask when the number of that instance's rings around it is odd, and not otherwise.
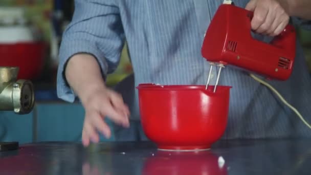
[[[112,121],[114,121],[117,124],[123,125],[124,127],[129,126],[129,121],[127,117],[124,117],[124,113],[115,110],[115,108],[112,105],[106,105],[102,107],[101,115],[103,117],[108,117]]]

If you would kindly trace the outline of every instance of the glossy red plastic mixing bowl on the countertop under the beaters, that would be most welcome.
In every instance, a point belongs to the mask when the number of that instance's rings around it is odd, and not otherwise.
[[[209,149],[224,134],[231,86],[140,84],[143,130],[159,149]]]

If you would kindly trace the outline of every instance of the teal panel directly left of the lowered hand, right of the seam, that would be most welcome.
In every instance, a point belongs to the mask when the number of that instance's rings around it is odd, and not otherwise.
[[[78,103],[37,104],[37,141],[81,141],[84,109]],[[110,125],[110,123],[109,123]],[[114,136],[101,141],[113,141]]]

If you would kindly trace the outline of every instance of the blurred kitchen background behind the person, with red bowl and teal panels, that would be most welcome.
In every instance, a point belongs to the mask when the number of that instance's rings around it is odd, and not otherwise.
[[[1,65],[18,66],[18,78],[33,81],[36,98],[31,114],[0,112],[0,141],[80,141],[83,107],[56,95],[58,47],[73,11],[74,0],[0,1]],[[311,70],[311,32],[297,31]],[[120,65],[107,77],[107,84],[114,86],[131,73],[125,45]],[[113,141],[114,136],[101,139]]]

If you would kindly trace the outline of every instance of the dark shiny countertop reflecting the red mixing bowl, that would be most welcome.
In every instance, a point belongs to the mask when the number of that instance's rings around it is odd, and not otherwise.
[[[0,158],[0,174],[311,174],[311,140],[220,141],[199,152],[158,151],[149,142],[44,142]]]

